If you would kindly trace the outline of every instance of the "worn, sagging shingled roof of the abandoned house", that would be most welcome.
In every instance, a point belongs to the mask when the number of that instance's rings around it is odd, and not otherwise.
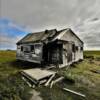
[[[48,41],[48,40],[51,41],[52,39],[54,39],[58,34],[60,34],[64,30],[72,31],[71,29],[67,28],[67,29],[63,29],[63,30],[60,30],[60,31],[57,31],[56,29],[52,29],[52,30],[45,30],[45,31],[42,31],[42,32],[29,33],[24,38],[22,38],[20,41],[18,41],[17,44],[29,43],[29,42],[43,42],[43,41],[45,42],[45,41]],[[76,35],[73,31],[72,31],[72,33],[74,35]],[[80,38],[77,35],[76,35],[76,37],[80,40]]]

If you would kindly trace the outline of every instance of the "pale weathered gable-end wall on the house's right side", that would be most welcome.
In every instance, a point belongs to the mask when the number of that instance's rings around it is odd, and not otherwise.
[[[65,49],[66,52],[63,51],[63,64],[61,64],[60,67],[83,59],[83,50],[81,50],[81,47],[83,48],[83,43],[71,31],[65,30],[56,39],[68,41],[68,43],[63,44],[63,49]],[[78,48],[75,52],[72,51],[73,44]]]

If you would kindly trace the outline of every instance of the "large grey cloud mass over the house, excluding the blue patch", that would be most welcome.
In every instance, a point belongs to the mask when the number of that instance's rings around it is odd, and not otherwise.
[[[71,27],[87,47],[100,47],[100,0],[1,0],[1,4],[1,17],[32,31]]]

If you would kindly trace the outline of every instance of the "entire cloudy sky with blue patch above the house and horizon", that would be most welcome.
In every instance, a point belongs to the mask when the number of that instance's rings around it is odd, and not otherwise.
[[[0,0],[0,49],[29,32],[71,28],[85,49],[100,50],[100,0]]]

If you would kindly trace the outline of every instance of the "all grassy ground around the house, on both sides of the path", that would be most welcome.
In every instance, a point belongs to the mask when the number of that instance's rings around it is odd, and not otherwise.
[[[32,67],[33,63],[16,61],[15,51],[0,51],[0,100],[31,98],[32,88],[22,80],[20,71]],[[100,100],[100,74],[93,72],[100,71],[100,51],[85,51],[83,61],[72,64],[69,69],[52,70],[57,70],[65,80],[54,84],[52,88],[35,87],[43,100],[84,100],[62,88],[81,92],[86,95],[86,100]]]

